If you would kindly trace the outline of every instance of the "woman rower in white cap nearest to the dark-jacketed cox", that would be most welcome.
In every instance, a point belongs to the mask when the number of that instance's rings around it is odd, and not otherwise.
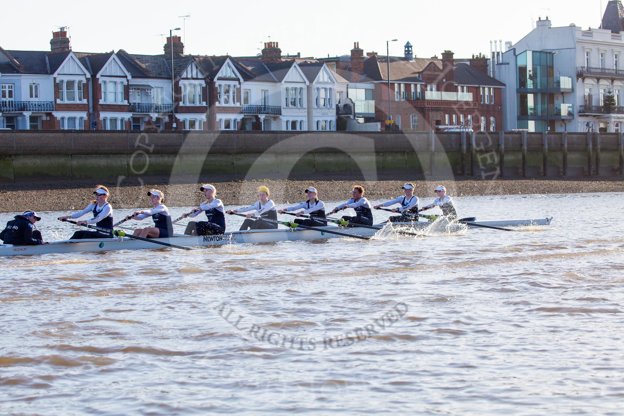
[[[100,228],[106,228],[107,230],[113,229],[113,207],[106,201],[109,198],[109,190],[106,186],[97,185],[93,191],[95,200],[91,201],[87,208],[84,210],[73,213],[72,215],[66,215],[59,217],[61,221],[67,221],[70,218],[80,218],[81,216],[92,213],[93,218],[90,220],[77,221],[76,225],[82,224],[95,224]],[[85,238],[113,238],[112,233],[106,233],[104,231],[91,231],[91,230],[78,230],[71,236],[70,239],[85,239]]]

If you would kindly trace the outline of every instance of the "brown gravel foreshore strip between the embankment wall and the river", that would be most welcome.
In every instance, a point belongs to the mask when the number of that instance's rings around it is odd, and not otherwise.
[[[197,183],[168,184],[168,178],[145,179],[140,183],[124,183],[117,186],[117,181],[100,181],[110,190],[109,202],[116,208],[147,207],[149,200],[145,192],[157,188],[165,193],[165,205],[199,205],[203,195],[198,191]],[[378,181],[353,180],[232,180],[228,177],[212,177],[210,183],[216,186],[217,196],[225,205],[243,205],[255,202],[258,198],[258,186],[268,186],[271,198],[276,203],[303,201],[303,189],[314,186],[319,191],[319,198],[326,201],[347,200],[351,197],[351,188],[359,184],[364,186],[364,196],[374,199],[396,198],[402,195],[404,180],[382,178]],[[433,190],[437,185],[446,186],[451,196],[468,195],[517,195],[545,193],[612,192],[624,191],[624,178],[596,179],[497,179],[490,180],[440,180],[415,181],[415,195],[420,198],[434,198]],[[50,181],[36,183],[8,183],[0,185],[0,211],[14,212],[27,209],[36,211],[82,209],[92,200],[93,181]]]

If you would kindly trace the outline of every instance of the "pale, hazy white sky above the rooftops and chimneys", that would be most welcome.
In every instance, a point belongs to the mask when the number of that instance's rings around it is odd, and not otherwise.
[[[267,41],[279,42],[282,54],[302,57],[349,54],[355,41],[364,52],[385,54],[386,40],[397,39],[389,47],[394,56],[402,56],[409,41],[417,57],[451,50],[461,58],[488,54],[490,40],[519,41],[539,16],[549,16],[553,26],[598,27],[607,1],[4,2],[2,14],[13,17],[2,19],[0,46],[49,51],[52,32],[69,26],[77,52],[162,54],[169,29],[181,27],[187,54],[254,56]],[[190,17],[178,17],[184,15]]]

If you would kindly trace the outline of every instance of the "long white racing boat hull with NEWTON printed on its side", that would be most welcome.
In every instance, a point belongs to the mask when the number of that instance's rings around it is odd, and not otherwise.
[[[475,224],[489,226],[532,226],[550,225],[552,217],[539,220],[510,220],[510,221],[475,221]],[[409,227],[423,230],[432,223],[392,223],[393,227]],[[386,223],[376,226],[388,226]],[[450,223],[449,231],[459,231],[464,225]],[[468,228],[477,228],[467,224]],[[346,231],[344,228],[336,226],[318,227],[317,230],[302,230],[289,228],[287,230],[251,230],[233,231],[223,235],[207,236],[187,236],[174,235],[170,238],[157,238],[156,241],[162,243],[177,244],[178,246],[217,246],[223,244],[243,244],[243,243],[270,243],[274,241],[298,241],[324,238],[345,238],[343,236],[328,233],[326,231]],[[348,232],[358,236],[373,236],[378,230],[369,228],[349,228]],[[87,251],[112,251],[112,250],[138,250],[147,248],[162,248],[149,241],[130,239],[127,237],[102,238],[102,239],[75,239],[53,241],[49,244],[38,246],[11,246],[0,245],[0,256],[20,256],[29,254],[50,254],[50,253],[82,253]]]

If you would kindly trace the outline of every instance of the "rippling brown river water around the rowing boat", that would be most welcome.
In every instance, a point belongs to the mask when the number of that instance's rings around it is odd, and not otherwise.
[[[0,414],[623,414],[624,193],[454,199],[554,219],[0,258]]]

